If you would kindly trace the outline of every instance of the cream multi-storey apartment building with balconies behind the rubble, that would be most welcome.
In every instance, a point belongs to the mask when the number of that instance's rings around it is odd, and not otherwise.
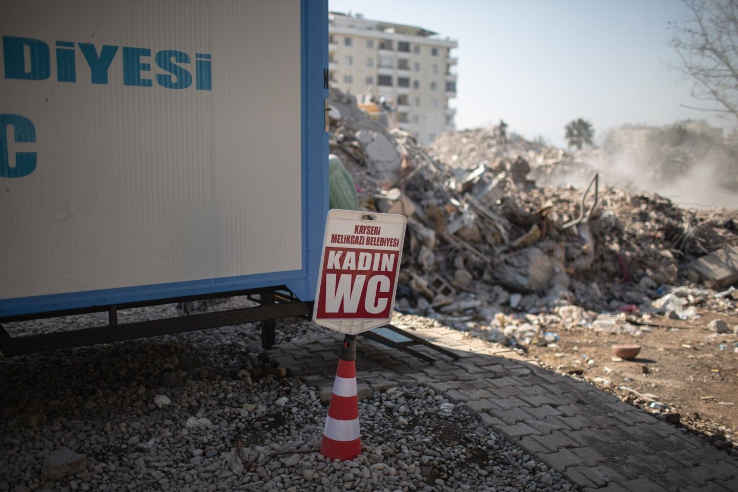
[[[356,97],[384,97],[399,128],[430,144],[454,130],[456,41],[421,27],[328,14],[331,85]]]

